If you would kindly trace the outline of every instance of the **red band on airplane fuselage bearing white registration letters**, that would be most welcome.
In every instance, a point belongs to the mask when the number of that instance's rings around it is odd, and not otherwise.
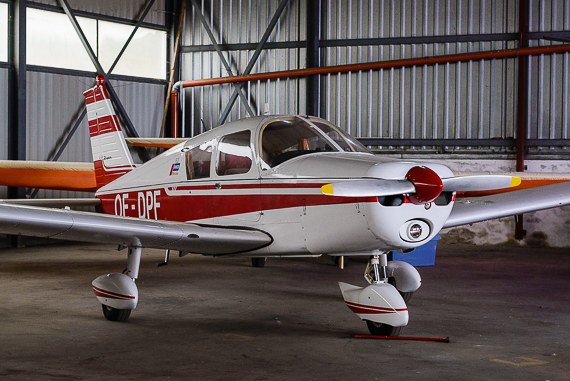
[[[128,217],[154,218],[169,221],[193,221],[205,218],[224,217],[235,214],[253,213],[300,206],[324,206],[351,204],[360,202],[376,202],[376,197],[333,197],[322,194],[263,194],[264,189],[299,189],[320,188],[322,184],[232,184],[223,185],[223,190],[247,189],[248,194],[216,194],[219,190],[214,185],[176,187],[180,190],[200,190],[198,195],[168,196],[163,188],[147,189],[101,195],[102,211],[108,214],[125,215]],[[173,188],[169,188],[173,189]],[[256,191],[258,189],[259,191]],[[204,195],[203,191],[211,191]],[[155,196],[154,192],[160,191]],[[123,197],[124,194],[128,197]],[[261,193],[261,194],[260,194]],[[121,200],[117,201],[117,194]],[[154,205],[159,203],[159,207]],[[118,205],[121,210],[116,210]],[[152,209],[152,210],[150,210]]]

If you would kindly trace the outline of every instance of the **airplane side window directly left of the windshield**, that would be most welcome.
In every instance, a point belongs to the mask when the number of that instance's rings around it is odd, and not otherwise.
[[[216,166],[219,176],[249,172],[252,163],[250,138],[251,132],[248,130],[226,135],[220,140]]]

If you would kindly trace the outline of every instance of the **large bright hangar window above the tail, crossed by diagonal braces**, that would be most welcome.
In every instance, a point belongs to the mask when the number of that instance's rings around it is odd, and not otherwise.
[[[29,65],[94,71],[79,36],[67,15],[27,9],[26,43]],[[134,26],[76,17],[103,70],[108,71]],[[166,32],[139,28],[121,56],[114,74],[164,79]]]

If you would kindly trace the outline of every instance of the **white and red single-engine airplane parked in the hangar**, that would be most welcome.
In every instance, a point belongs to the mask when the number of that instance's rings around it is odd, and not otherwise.
[[[376,156],[311,116],[234,121],[136,166],[104,80],[84,96],[97,188],[88,202],[99,213],[6,200],[0,232],[128,249],[125,271],[92,282],[112,321],[126,321],[137,306],[145,247],[166,249],[166,260],[175,250],[248,256],[257,266],[266,257],[328,254],[371,258],[370,284],[339,283],[343,297],[372,334],[397,335],[421,279],[413,266],[387,261],[388,252],[423,245],[442,228],[570,204],[570,183],[460,203],[456,192],[515,187],[520,179],[455,177],[444,165]]]

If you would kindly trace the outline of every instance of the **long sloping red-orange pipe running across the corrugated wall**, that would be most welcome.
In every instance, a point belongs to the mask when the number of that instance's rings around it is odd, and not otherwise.
[[[552,53],[562,53],[562,52],[570,52],[570,44],[451,54],[451,55],[436,56],[436,57],[408,58],[408,59],[393,60],[393,61],[368,62],[360,64],[327,66],[327,67],[299,69],[299,70],[285,70],[285,71],[275,71],[271,73],[237,75],[233,77],[195,79],[191,81],[182,81],[179,82],[179,84],[182,87],[196,87],[196,86],[206,86],[206,85],[218,85],[222,83],[260,81],[260,80],[278,79],[278,78],[296,78],[296,77],[306,77],[309,75],[346,73],[349,71],[379,70],[379,69],[390,69],[397,67],[434,65],[434,64],[452,63],[452,62],[478,61],[483,59],[509,58],[509,57],[520,57],[520,56],[529,56],[537,54],[552,54]]]

